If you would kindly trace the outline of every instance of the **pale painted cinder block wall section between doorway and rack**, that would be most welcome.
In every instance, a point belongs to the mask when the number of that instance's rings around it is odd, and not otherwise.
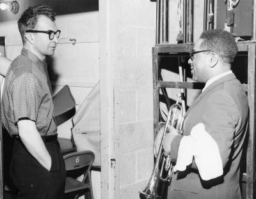
[[[154,158],[152,47],[156,3],[116,1],[117,50],[115,115],[116,198],[139,198],[147,185]]]

